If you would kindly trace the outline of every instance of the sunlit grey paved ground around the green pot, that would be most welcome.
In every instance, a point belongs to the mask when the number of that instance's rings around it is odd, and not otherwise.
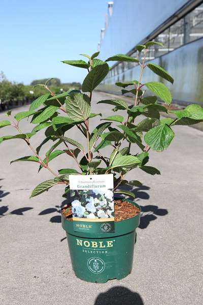
[[[93,112],[111,107],[96,105],[108,99],[95,93]],[[26,110],[22,107],[21,110]],[[19,109],[14,112],[18,112]],[[0,114],[0,120],[5,119]],[[92,119],[96,121],[96,118]],[[26,120],[23,131],[30,131]],[[0,134],[11,128],[0,130]],[[29,155],[21,140],[0,146],[0,303],[2,305],[199,305],[202,291],[202,175],[203,133],[189,127],[175,127],[171,148],[151,152],[151,165],[161,176],[140,170],[131,179],[143,181],[136,189],[137,202],[144,213],[132,273],[121,281],[91,284],[77,279],[71,267],[65,233],[59,223],[62,189],[29,199],[33,187],[51,178],[37,173],[32,163],[9,162]],[[41,142],[43,132],[33,137]],[[77,138],[71,131],[70,137]],[[42,153],[47,150],[45,147]],[[51,165],[51,164],[50,164]],[[53,169],[71,167],[71,158],[52,161]],[[45,210],[45,211],[44,211]],[[43,212],[44,211],[44,212]]]

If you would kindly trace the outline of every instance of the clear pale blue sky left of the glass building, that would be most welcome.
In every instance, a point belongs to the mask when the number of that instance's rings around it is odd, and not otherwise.
[[[107,0],[1,0],[0,71],[11,81],[82,81],[84,69],[60,63],[97,51]]]

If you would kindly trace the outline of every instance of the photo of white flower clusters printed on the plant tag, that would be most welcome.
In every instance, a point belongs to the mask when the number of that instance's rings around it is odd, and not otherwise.
[[[114,217],[112,190],[85,190],[78,193],[81,198],[72,201],[73,217],[90,219]]]

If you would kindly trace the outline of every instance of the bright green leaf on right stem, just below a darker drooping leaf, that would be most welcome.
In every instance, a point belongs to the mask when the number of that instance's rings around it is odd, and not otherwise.
[[[170,90],[168,90],[168,88],[164,84],[158,81],[151,81],[145,83],[145,86],[153,93],[155,93],[162,101],[167,104],[171,104],[172,96]]]

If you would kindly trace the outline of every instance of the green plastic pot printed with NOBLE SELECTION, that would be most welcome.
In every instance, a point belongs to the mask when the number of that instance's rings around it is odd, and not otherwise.
[[[126,200],[137,207],[131,200]],[[140,208],[141,209],[141,208]],[[76,276],[92,283],[106,283],[123,279],[132,270],[136,228],[140,214],[115,222],[114,233],[76,232],[73,221],[62,215],[62,228],[66,232],[71,261]]]

